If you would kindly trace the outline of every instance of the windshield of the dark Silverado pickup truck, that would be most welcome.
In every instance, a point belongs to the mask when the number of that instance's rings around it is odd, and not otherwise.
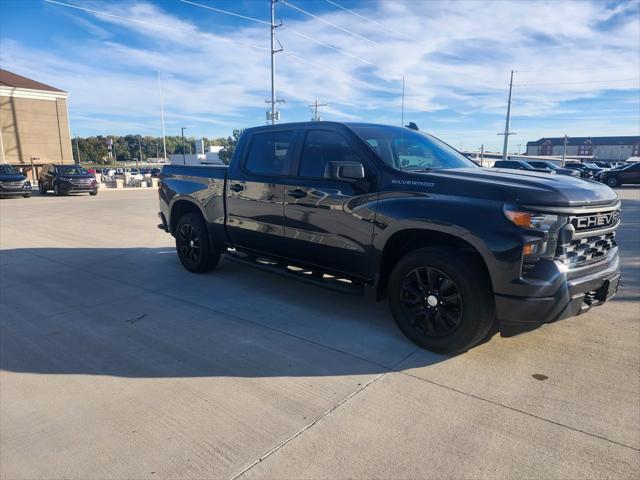
[[[477,165],[435,137],[400,127],[352,127],[390,167],[405,171]]]

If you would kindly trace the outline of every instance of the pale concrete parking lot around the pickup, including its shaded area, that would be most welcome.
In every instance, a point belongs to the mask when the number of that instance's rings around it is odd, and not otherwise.
[[[0,477],[638,478],[640,189],[609,304],[447,357],[386,303],[182,269],[154,191],[0,200]]]

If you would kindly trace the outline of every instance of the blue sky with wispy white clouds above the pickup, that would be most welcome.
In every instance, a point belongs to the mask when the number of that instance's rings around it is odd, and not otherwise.
[[[193,1],[269,18],[268,0]],[[2,0],[0,64],[70,92],[74,135],[160,135],[156,71],[167,134],[265,123],[267,25],[179,0],[61,2],[109,15]],[[399,124],[404,75],[405,123],[499,150],[515,69],[513,150],[565,133],[640,135],[637,0],[290,0],[277,15],[282,121],[308,120],[318,99],[326,120]]]

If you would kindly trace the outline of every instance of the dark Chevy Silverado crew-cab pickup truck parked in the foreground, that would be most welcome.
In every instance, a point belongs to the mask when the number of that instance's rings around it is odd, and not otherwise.
[[[230,165],[164,167],[160,228],[187,270],[238,261],[388,298],[418,345],[459,352],[615,295],[620,201],[597,182],[480,168],[411,128],[250,128]]]

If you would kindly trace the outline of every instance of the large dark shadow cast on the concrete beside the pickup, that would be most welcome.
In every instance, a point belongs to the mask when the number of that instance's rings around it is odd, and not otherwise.
[[[371,294],[347,296],[224,260],[194,275],[172,248],[22,248],[1,251],[0,262],[5,371],[314,377],[449,358],[413,355],[417,347]]]

